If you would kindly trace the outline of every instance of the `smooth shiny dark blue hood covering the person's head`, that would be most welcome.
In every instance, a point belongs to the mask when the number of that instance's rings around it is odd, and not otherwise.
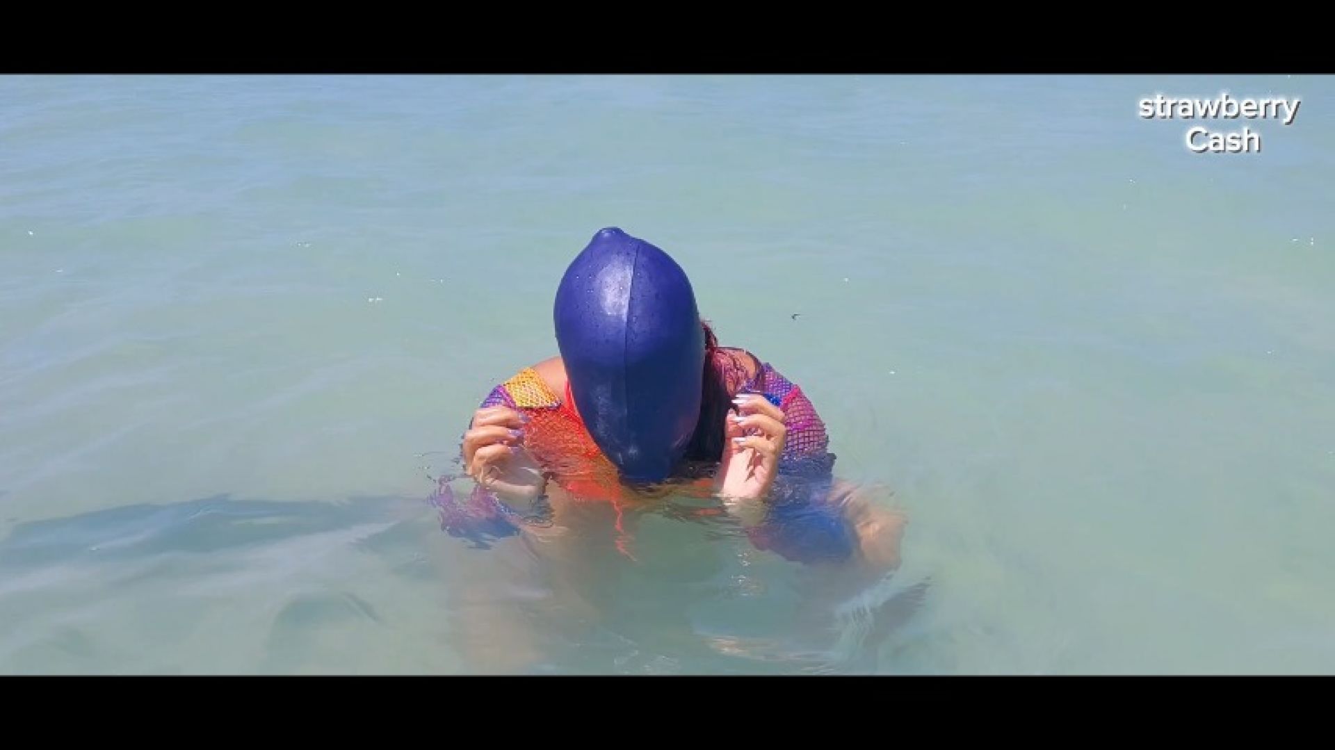
[[[561,279],[557,346],[575,408],[630,480],[666,479],[700,418],[705,332],[686,272],[609,227]]]

